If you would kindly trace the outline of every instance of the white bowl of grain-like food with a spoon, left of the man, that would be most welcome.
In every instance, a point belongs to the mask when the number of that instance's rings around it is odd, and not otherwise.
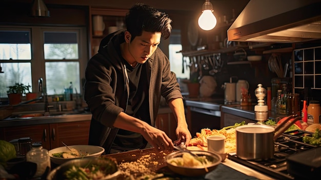
[[[62,165],[72,159],[96,157],[103,154],[104,148],[91,145],[74,145],[55,148],[49,151],[50,160],[52,163]]]

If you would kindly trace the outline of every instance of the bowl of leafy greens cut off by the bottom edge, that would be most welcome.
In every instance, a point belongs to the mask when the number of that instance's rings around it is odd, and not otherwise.
[[[120,174],[121,170],[114,158],[100,156],[72,159],[53,169],[47,179],[111,180],[117,179]]]

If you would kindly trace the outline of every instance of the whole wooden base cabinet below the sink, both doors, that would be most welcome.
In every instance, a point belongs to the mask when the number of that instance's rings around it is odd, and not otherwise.
[[[0,128],[0,139],[11,141],[20,137],[30,137],[32,142],[42,142],[45,149],[67,145],[87,145],[90,121],[53,123],[31,126]]]

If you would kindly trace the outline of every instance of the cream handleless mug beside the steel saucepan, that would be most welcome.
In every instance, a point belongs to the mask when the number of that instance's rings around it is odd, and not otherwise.
[[[211,135],[207,137],[207,150],[219,154],[225,153],[225,137],[220,135]]]

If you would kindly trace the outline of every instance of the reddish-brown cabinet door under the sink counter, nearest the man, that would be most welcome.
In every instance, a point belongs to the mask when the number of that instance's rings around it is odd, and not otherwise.
[[[51,149],[66,145],[88,145],[90,121],[50,124]]]

